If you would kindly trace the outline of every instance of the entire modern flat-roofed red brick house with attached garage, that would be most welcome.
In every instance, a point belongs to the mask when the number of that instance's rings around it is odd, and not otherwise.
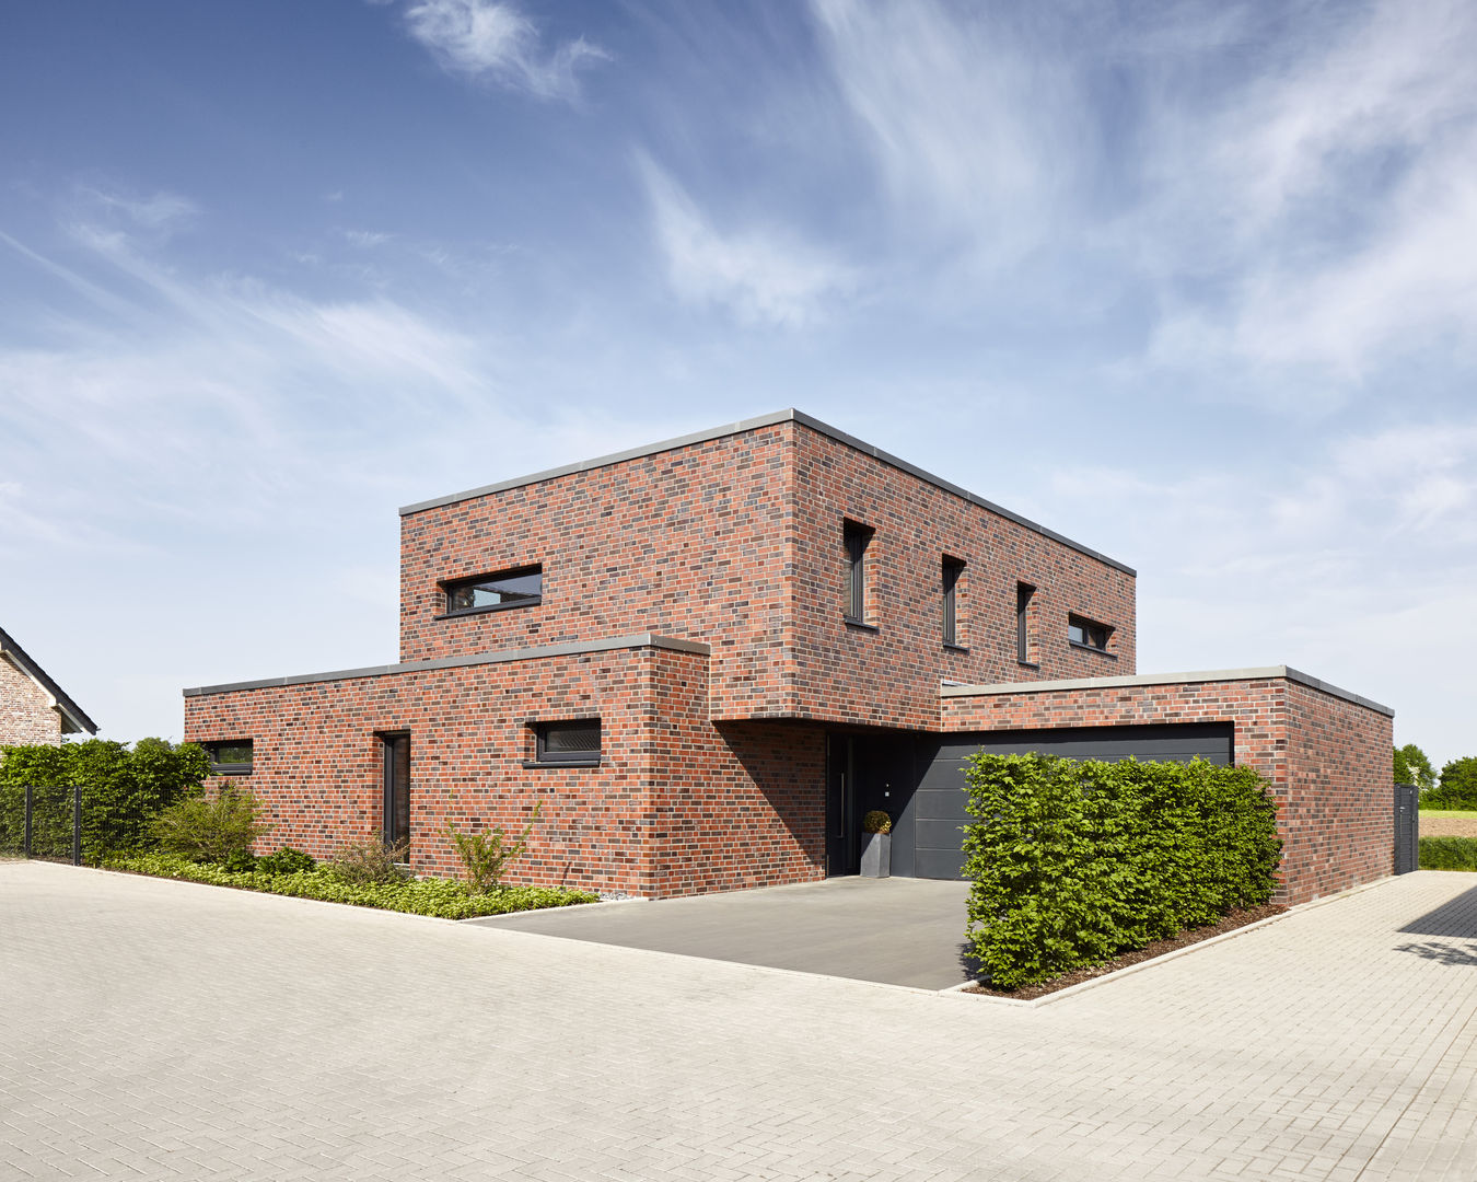
[[[400,662],[185,691],[284,842],[520,827],[517,881],[665,897],[959,873],[967,751],[1250,762],[1284,895],[1391,872],[1391,714],[1140,677],[1134,572],[798,411],[400,510]]]

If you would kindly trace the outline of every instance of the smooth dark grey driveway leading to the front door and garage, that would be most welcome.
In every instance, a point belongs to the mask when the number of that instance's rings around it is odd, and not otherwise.
[[[654,903],[470,919],[489,928],[917,988],[972,980],[967,882],[833,878]]]

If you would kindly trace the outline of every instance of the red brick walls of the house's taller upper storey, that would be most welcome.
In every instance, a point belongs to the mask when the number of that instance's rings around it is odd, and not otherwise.
[[[842,622],[842,526],[874,530],[876,631]],[[966,563],[960,641],[941,635],[941,560]],[[437,619],[439,584],[541,563],[533,607]],[[713,720],[931,727],[939,678],[1134,672],[1134,579],[1009,517],[784,421],[402,519],[400,659],[651,631],[709,643]],[[1038,668],[1016,660],[1016,582]],[[1114,626],[1066,643],[1069,612]]]

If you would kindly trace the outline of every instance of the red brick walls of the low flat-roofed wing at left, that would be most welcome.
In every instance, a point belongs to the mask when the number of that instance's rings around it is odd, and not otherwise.
[[[654,647],[186,697],[195,742],[251,739],[258,853],[328,857],[383,824],[378,731],[411,733],[412,867],[461,870],[446,823],[521,829],[510,882],[660,897],[824,873],[823,745],[803,727],[719,731],[707,659]],[[600,717],[598,768],[527,768],[530,720]]]

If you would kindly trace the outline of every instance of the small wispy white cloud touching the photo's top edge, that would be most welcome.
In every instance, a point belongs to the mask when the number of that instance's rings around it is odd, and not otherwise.
[[[417,0],[405,19],[448,72],[541,99],[578,98],[576,71],[610,56],[583,37],[545,50],[538,27],[508,0]]]

